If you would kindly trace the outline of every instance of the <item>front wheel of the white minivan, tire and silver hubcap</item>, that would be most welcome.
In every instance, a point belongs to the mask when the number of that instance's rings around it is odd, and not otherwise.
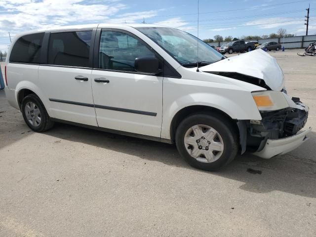
[[[202,127],[202,130],[197,132],[197,127]],[[208,171],[218,170],[236,157],[237,141],[237,132],[231,121],[216,114],[191,115],[179,124],[176,131],[176,145],[180,155],[193,167]],[[212,144],[215,150],[211,149]]]

